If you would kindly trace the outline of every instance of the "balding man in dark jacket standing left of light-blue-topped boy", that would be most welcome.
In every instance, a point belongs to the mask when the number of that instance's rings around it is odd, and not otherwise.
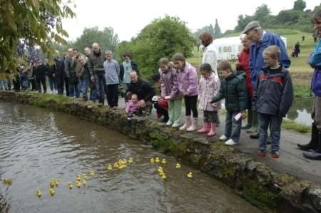
[[[97,98],[99,103],[103,104],[105,102],[105,71],[103,69],[103,62],[105,61],[105,56],[101,51],[98,43],[93,43],[92,52],[88,56],[88,68],[91,74],[91,80],[95,82],[97,89]]]

